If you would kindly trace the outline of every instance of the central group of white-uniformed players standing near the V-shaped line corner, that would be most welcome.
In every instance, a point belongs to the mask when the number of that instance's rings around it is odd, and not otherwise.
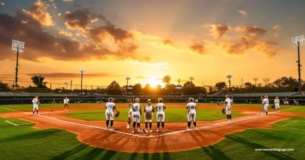
[[[110,121],[110,130],[113,130],[113,110],[117,111],[116,105],[113,103],[114,99],[109,98],[109,102],[106,103],[106,127],[105,129],[108,129],[109,121]],[[133,104],[129,104],[129,107],[131,109],[128,111],[128,121],[127,121],[127,129],[130,129],[130,124],[131,124],[131,117],[132,117],[132,132],[135,133],[135,127],[137,125],[137,131],[139,133],[143,133],[144,131],[140,128],[140,120],[142,116],[142,109],[140,105],[140,99],[136,98],[135,102]],[[190,131],[190,126],[191,126],[191,121],[193,121],[193,124],[195,126],[195,130],[198,130],[196,127],[196,103],[194,103],[193,98],[189,98],[189,103],[186,105],[186,110],[188,110],[188,124],[186,131]],[[160,122],[161,122],[161,127],[162,127],[162,132],[164,132],[164,119],[165,119],[165,112],[164,110],[166,109],[165,104],[163,103],[163,99],[159,98],[158,103],[156,104],[156,110],[157,110],[157,130],[156,132],[159,132],[160,129]],[[151,100],[148,99],[147,103],[145,104],[144,108],[144,118],[145,118],[145,132],[146,133],[151,133],[152,132],[152,115],[155,112],[155,108],[151,104]],[[148,130],[148,122],[149,122],[149,130]]]

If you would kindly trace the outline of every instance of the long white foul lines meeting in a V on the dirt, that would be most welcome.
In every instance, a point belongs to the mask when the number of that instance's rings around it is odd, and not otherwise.
[[[2,108],[2,107],[0,107],[0,108]],[[298,107],[294,107],[294,108],[298,108]],[[288,109],[285,109],[285,110],[290,110],[290,109],[294,109],[294,108],[288,108]],[[7,109],[7,108],[3,108],[3,109]],[[7,110],[11,110],[11,109],[7,109]],[[13,110],[13,111],[18,111],[18,110]],[[281,111],[283,111],[283,110],[281,110]],[[18,112],[21,112],[21,111],[18,111]],[[27,113],[27,112],[22,112],[22,113]],[[276,113],[276,112],[271,112],[271,113],[269,113],[269,114],[272,114],[272,113]],[[29,114],[31,114],[31,113],[29,113]],[[82,126],[91,127],[91,128],[98,128],[98,129],[105,129],[105,128],[103,128],[103,127],[97,127],[97,126],[93,126],[93,125],[84,125],[84,124],[75,123],[75,122],[70,122],[70,121],[64,121],[64,120],[60,120],[60,119],[56,119],[56,118],[52,118],[52,117],[46,117],[46,116],[41,116],[41,115],[38,115],[38,116],[39,116],[39,117],[44,117],[44,118],[53,119],[53,120],[57,120],[57,121],[62,121],[62,122],[66,122],[66,123],[71,123],[71,124],[75,124],[75,125],[82,125]],[[235,121],[231,121],[231,122],[221,122],[221,123],[216,123],[216,124],[201,126],[201,127],[198,127],[198,128],[206,128],[206,127],[213,126],[213,125],[230,124],[230,123],[235,123],[235,122],[239,122],[239,121],[245,121],[245,120],[257,118],[257,116],[262,116],[262,114],[257,114],[257,115],[254,115],[254,116],[239,118],[239,119],[237,119],[237,120],[235,120]],[[195,129],[190,129],[190,130],[195,130]],[[140,136],[140,135],[136,135],[136,134],[126,133],[126,132],[120,132],[120,131],[115,131],[115,130],[107,130],[107,131],[122,133],[122,134],[126,134],[126,135],[131,135],[131,136],[143,137],[143,138],[159,137],[159,136],[166,136],[166,135],[175,134],[175,133],[179,133],[179,132],[186,132],[185,130],[181,130],[181,131],[170,132],[170,133],[166,133],[166,134],[162,134],[162,135]]]

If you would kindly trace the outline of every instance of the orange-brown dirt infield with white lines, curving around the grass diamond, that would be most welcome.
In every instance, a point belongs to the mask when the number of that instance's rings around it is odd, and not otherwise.
[[[168,105],[170,107],[171,105]],[[118,106],[123,107],[123,106]],[[185,107],[185,105],[174,105],[172,107]],[[200,108],[215,109],[214,106],[198,105]],[[73,110],[100,109],[101,106],[77,106]],[[57,113],[48,113],[53,110]],[[175,152],[196,149],[209,146],[224,139],[226,134],[241,132],[248,128],[272,129],[270,124],[289,119],[291,117],[305,117],[302,113],[280,112],[268,116],[258,115],[260,108],[257,107],[234,107],[233,110],[242,110],[247,116],[233,118],[232,123],[218,121],[197,121],[199,131],[184,132],[186,123],[166,123],[164,133],[152,132],[131,134],[126,129],[126,122],[115,122],[116,130],[104,130],[103,121],[84,121],[80,119],[65,117],[61,108],[40,109],[40,116],[32,116],[30,110],[13,113],[0,113],[0,117],[14,117],[35,123],[33,128],[47,129],[59,128],[77,134],[77,139],[94,147],[131,153],[159,153]],[[103,116],[103,115],[101,115]],[[156,124],[153,124],[156,128]]]

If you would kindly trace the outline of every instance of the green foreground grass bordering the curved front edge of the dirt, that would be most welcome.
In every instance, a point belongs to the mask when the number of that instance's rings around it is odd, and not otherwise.
[[[1,159],[304,159],[305,117],[278,122],[274,130],[247,129],[226,135],[225,139],[208,147],[171,153],[123,153],[91,147],[76,139],[76,135],[60,129],[38,130],[34,124],[12,118],[0,118]],[[295,122],[299,121],[299,122]],[[294,123],[291,123],[294,122]],[[290,123],[290,124],[289,124]],[[287,125],[288,124],[288,125]],[[286,126],[284,126],[286,125]],[[190,132],[189,134],[193,134]],[[204,134],[204,133],[202,133]],[[196,137],[194,137],[196,139]],[[197,140],[199,141],[199,139]],[[114,145],[114,144],[113,144]],[[255,151],[263,148],[286,148],[294,151]]]

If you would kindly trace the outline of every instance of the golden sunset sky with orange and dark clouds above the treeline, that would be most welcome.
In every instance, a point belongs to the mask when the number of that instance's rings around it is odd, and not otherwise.
[[[80,84],[79,69],[84,85],[297,78],[291,38],[305,34],[304,8],[304,0],[0,0],[0,79],[15,78],[12,39],[25,42],[19,80]]]

